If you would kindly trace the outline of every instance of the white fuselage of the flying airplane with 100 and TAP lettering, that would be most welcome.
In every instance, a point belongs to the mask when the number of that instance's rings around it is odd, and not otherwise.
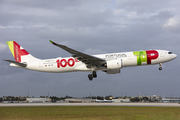
[[[160,64],[171,61],[177,57],[177,55],[169,51],[165,51],[165,50],[155,50],[155,51],[157,51],[157,53],[146,54],[143,53],[144,51],[135,51],[135,52],[99,54],[93,56],[104,59],[106,61],[119,60],[121,61],[120,62],[121,68],[139,66],[139,65]],[[93,70],[102,71],[108,69],[105,67],[87,68],[86,64],[73,57],[66,57],[66,58],[59,57],[55,59],[45,59],[45,60],[37,59],[35,61],[26,61],[26,64],[27,64],[27,66],[25,67],[26,69],[41,71],[41,72],[52,72],[52,73],[93,71]],[[11,66],[19,67],[13,63],[11,63]]]

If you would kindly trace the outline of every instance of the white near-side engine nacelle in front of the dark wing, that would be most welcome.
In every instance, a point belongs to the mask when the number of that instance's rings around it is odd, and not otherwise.
[[[107,69],[121,69],[122,68],[121,59],[108,60],[106,61],[106,64],[107,64]]]

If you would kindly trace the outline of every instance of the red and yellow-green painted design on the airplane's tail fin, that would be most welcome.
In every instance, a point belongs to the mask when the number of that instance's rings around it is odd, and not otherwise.
[[[15,41],[8,41],[7,44],[9,46],[9,49],[11,50],[12,55],[14,56],[17,62],[21,62],[21,56],[29,54],[25,49],[23,49]]]

